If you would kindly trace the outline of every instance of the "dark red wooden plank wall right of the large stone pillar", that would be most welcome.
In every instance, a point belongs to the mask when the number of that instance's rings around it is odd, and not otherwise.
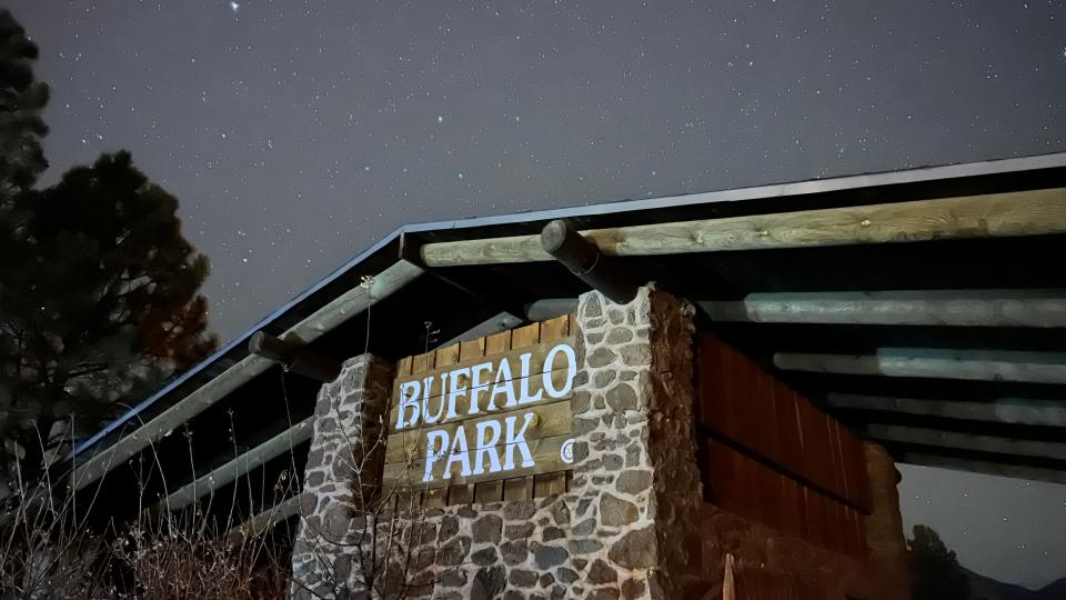
[[[714,336],[697,349],[707,500],[836,552],[864,558],[871,511],[862,442]]]

